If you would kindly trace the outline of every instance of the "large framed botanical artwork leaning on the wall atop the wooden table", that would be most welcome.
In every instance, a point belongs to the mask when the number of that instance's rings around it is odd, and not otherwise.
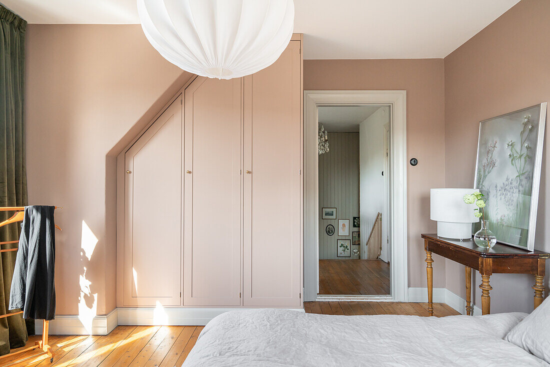
[[[487,201],[484,217],[502,242],[533,250],[546,102],[483,120],[474,188]],[[480,223],[474,223],[474,233]]]

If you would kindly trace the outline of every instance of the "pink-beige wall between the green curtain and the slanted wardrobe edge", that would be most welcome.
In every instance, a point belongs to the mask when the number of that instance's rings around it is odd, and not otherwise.
[[[190,74],[139,25],[31,24],[26,42],[29,201],[63,206],[57,314],[105,314],[116,305],[115,157]]]

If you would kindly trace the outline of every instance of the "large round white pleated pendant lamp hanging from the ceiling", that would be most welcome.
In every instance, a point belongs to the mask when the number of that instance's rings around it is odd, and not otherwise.
[[[293,0],[138,0],[141,27],[169,62],[208,78],[268,67],[288,46]]]

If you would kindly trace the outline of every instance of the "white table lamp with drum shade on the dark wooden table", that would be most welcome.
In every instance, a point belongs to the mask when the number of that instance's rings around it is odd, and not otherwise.
[[[437,221],[437,235],[445,238],[471,238],[472,223],[479,222],[474,216],[475,205],[464,202],[464,195],[476,189],[431,189],[430,219]]]

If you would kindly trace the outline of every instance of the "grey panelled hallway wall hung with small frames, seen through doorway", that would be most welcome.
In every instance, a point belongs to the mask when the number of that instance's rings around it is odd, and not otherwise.
[[[336,240],[351,240],[351,233],[359,232],[353,228],[353,217],[359,216],[359,133],[328,133],[328,147],[319,156],[319,259],[358,259],[338,258]],[[337,219],[321,219],[323,207],[335,207]],[[338,219],[349,219],[348,236],[338,236]],[[332,236],[325,232],[328,224],[334,226]]]

